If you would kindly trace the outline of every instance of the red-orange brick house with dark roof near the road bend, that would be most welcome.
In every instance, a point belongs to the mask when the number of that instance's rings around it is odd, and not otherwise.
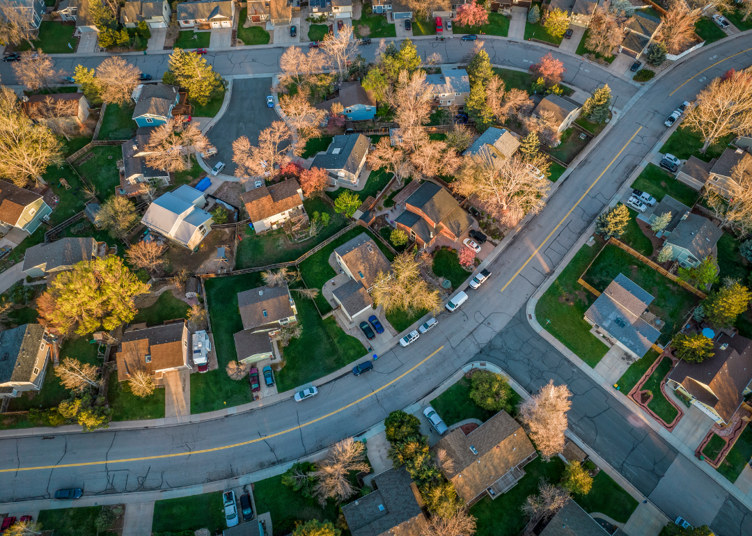
[[[395,223],[418,246],[431,247],[438,235],[458,241],[470,229],[473,219],[446,188],[426,181],[405,201],[405,210]]]

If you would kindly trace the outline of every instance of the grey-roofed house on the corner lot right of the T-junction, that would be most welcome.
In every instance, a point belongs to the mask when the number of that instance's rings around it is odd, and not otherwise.
[[[634,359],[640,359],[653,347],[660,331],[648,323],[646,313],[653,296],[624,274],[618,274],[596,298],[585,321],[608,343],[616,344]]]

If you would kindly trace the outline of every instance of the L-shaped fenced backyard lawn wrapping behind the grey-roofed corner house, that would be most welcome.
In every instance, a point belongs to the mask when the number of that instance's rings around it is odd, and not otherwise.
[[[655,298],[648,310],[665,323],[658,342],[667,344],[681,327],[687,312],[696,306],[699,298],[654,271],[653,268],[642,264],[626,251],[611,244],[603,248],[583,279],[596,290],[603,292],[620,273],[629,277]]]

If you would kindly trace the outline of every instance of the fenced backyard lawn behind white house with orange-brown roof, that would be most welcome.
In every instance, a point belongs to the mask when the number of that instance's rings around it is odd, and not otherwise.
[[[250,227],[246,226],[243,241],[238,244],[238,249],[235,253],[235,268],[254,268],[256,266],[276,264],[277,262],[294,261],[306,251],[320,244],[320,242],[332,235],[336,235],[347,227],[347,218],[342,214],[336,213],[334,208],[321,198],[312,197],[305,199],[303,206],[305,207],[305,211],[308,212],[308,216],[311,216],[314,212],[327,213],[332,217],[332,220],[318,235],[294,244],[290,242],[282,229],[256,235],[250,230]]]

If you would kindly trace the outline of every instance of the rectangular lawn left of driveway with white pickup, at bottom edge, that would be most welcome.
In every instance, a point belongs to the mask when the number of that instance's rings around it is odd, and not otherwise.
[[[210,534],[217,534],[226,527],[222,492],[168,498],[154,503],[153,533],[208,528]]]

